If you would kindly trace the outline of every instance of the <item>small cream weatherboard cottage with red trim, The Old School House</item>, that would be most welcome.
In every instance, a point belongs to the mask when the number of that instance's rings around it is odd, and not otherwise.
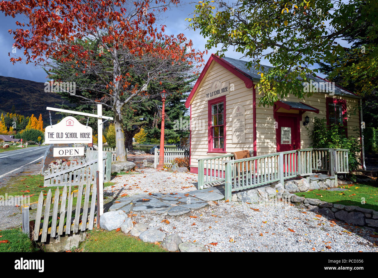
[[[359,96],[317,77],[304,90],[323,85],[322,92],[259,107],[261,96],[254,87],[260,74],[245,63],[212,54],[186,100],[191,113],[191,172],[198,173],[198,159],[235,151],[248,149],[255,157],[310,148],[314,117],[343,123],[347,135],[361,142]]]

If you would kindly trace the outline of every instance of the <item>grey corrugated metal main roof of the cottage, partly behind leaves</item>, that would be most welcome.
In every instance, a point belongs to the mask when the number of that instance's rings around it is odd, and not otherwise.
[[[257,79],[257,80],[260,80],[261,78],[261,75],[259,74],[259,72],[267,72],[270,68],[270,66],[266,66],[266,65],[262,65],[264,67],[264,70],[256,70],[254,66],[256,66],[257,64],[252,64],[252,67],[250,69],[248,69],[246,67],[246,63],[247,61],[243,61],[243,60],[238,60],[238,59],[233,59],[233,58],[229,58],[229,57],[222,57],[221,59],[224,59],[226,62],[230,63],[231,65],[233,65],[235,67],[236,70],[240,71],[241,73],[243,73],[245,76],[247,76],[248,78],[251,78],[251,79]],[[328,81],[322,79],[322,78],[319,78],[319,77],[314,77],[314,76],[309,76],[310,79],[313,79],[314,82],[322,82],[320,84],[323,84],[323,82],[325,83],[329,83]],[[335,91],[335,95],[339,95],[339,96],[349,96],[349,97],[352,97],[352,98],[361,98],[360,96],[357,96],[341,87],[338,87],[338,86],[334,86],[333,90]],[[327,92],[328,93],[328,92]]]

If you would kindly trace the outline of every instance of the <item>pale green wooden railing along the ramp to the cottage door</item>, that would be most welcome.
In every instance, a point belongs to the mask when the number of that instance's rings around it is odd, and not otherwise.
[[[346,149],[298,149],[235,160],[233,155],[198,160],[198,189],[225,182],[226,200],[233,191],[328,171],[335,177],[348,173]],[[313,162],[317,158],[317,163]],[[224,165],[224,166],[223,166]]]

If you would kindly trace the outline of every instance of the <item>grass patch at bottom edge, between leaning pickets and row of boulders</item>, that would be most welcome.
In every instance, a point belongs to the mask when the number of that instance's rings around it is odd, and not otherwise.
[[[167,252],[160,245],[143,242],[115,230],[89,231],[80,249],[83,252]]]

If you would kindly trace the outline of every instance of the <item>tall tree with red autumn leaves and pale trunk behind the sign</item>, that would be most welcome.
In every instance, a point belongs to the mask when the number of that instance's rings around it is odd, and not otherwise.
[[[191,40],[184,34],[167,35],[166,26],[159,24],[159,16],[178,4],[179,0],[19,0],[0,2],[0,10],[6,16],[23,14],[29,21],[17,21],[19,28],[9,30],[14,46],[25,56],[11,57],[11,62],[33,62],[67,73],[74,68],[76,73],[66,82],[95,76],[93,96],[76,96],[112,109],[117,157],[124,160],[125,104],[146,95],[150,82],[180,76],[183,63],[195,65],[196,74],[203,63],[204,52],[191,49]],[[141,84],[135,82],[135,75],[143,76]],[[76,87],[88,90],[80,84]]]

